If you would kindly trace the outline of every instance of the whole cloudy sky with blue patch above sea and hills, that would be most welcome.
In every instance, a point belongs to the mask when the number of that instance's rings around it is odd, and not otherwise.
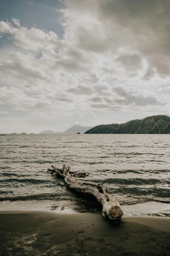
[[[170,115],[169,0],[1,0],[0,133]]]

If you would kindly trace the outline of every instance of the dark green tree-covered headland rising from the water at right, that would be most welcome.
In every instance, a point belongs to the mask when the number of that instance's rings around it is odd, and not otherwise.
[[[124,124],[98,125],[85,133],[170,134],[170,117],[153,115],[144,119],[130,120]]]

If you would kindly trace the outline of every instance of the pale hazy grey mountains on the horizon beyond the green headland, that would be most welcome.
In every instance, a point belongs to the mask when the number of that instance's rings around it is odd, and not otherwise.
[[[87,130],[91,129],[92,126],[90,127],[86,127],[86,126],[80,126],[80,125],[73,125],[71,128],[68,128],[66,131],[64,132],[54,132],[54,131],[42,131],[40,132],[40,134],[77,134],[79,133],[85,133]]]

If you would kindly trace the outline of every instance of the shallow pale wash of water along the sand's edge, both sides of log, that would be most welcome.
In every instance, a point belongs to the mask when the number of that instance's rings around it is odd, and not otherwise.
[[[80,204],[81,203],[81,204]],[[55,213],[101,213],[102,206],[98,203],[72,202],[70,200],[24,200],[1,201],[0,211],[51,211]],[[170,204],[149,201],[138,204],[121,204],[123,216],[154,216],[170,217]]]

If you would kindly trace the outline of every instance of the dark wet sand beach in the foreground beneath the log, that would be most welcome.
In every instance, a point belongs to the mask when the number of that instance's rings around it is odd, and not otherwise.
[[[170,255],[170,218],[0,212],[0,255]]]

